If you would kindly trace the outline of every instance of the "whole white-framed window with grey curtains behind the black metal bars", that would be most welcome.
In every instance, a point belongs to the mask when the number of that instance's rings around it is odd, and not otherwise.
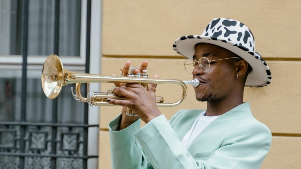
[[[20,119],[23,101],[21,99],[23,1],[25,0],[0,0],[0,92],[2,93],[0,95],[0,168],[17,168],[21,164],[21,158],[24,159],[22,165],[25,168],[35,166],[50,168],[51,159],[43,156],[51,153],[49,140],[60,140],[57,142],[56,155],[84,155],[84,147],[87,146],[85,144],[88,144],[83,138],[88,134],[84,127],[87,124],[84,124],[83,120],[85,103],[73,99],[70,90],[72,85],[64,87],[58,97],[56,123],[79,127],[55,127],[57,124],[54,125],[51,120],[52,100],[45,97],[40,77],[46,57],[54,51],[55,0],[28,0],[26,119],[25,121]],[[86,15],[89,8],[87,2],[87,0],[60,0],[58,54],[64,69],[70,71],[84,72],[85,70]],[[101,2],[93,3],[97,4],[92,5],[93,10],[101,11]],[[99,18],[101,17],[94,17],[96,23],[100,23]],[[100,31],[98,30],[98,33]],[[99,40],[97,41],[99,43]],[[100,55],[99,51],[91,50],[92,52]],[[99,72],[94,71],[94,73]],[[51,136],[54,129],[56,138]],[[97,139],[97,131],[91,139]],[[24,153],[39,154],[41,157],[24,158],[19,154],[5,155],[20,152],[22,133],[25,139]],[[42,140],[34,140],[36,138]],[[92,147],[95,149],[97,142]],[[83,162],[87,160],[85,158],[57,157],[55,161],[57,167],[87,168]],[[89,166],[95,167],[90,164]]]

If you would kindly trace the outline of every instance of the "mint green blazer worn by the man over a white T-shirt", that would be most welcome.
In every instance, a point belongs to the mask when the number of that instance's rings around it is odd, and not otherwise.
[[[268,153],[272,135],[257,121],[249,103],[211,122],[186,149],[181,141],[200,109],[181,110],[169,121],[160,115],[140,129],[140,119],[115,131],[109,124],[113,169],[257,169]]]

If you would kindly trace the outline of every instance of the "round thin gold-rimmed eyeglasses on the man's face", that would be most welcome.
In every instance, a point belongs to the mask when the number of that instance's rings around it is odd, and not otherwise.
[[[239,59],[238,57],[229,57],[225,59]],[[225,60],[225,59],[218,59],[218,60]],[[201,57],[199,61],[192,60],[192,59],[187,59],[185,60],[184,66],[185,70],[189,73],[192,74],[192,71],[194,70],[195,66],[199,65],[199,68],[202,72],[206,73],[209,71],[210,68],[210,63],[218,60],[209,60],[206,57]]]

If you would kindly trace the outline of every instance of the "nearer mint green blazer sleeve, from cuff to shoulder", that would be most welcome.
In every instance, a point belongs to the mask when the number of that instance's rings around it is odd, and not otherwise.
[[[164,115],[154,118],[134,135],[155,169],[259,168],[271,143],[270,131],[263,124],[240,126],[204,161],[191,156]]]

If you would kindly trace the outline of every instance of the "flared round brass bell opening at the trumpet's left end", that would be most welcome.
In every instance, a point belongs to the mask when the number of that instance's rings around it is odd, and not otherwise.
[[[61,60],[56,55],[50,55],[42,69],[42,88],[45,95],[56,98],[64,86],[64,69]]]

